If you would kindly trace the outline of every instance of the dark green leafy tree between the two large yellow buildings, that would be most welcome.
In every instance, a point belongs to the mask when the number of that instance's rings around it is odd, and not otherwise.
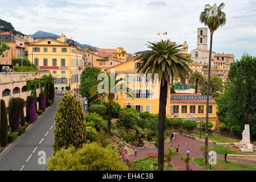
[[[80,92],[82,94],[82,97],[86,97],[90,101],[95,100],[97,96],[91,97],[90,98],[90,89],[99,83],[97,80],[98,75],[101,72],[97,68],[90,68],[87,67],[82,71],[81,74],[81,85],[80,85]]]

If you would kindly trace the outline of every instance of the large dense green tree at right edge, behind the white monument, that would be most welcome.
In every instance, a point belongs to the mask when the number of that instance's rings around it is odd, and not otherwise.
[[[243,55],[230,65],[225,92],[217,100],[218,117],[234,133],[241,134],[250,125],[256,138],[256,57]]]

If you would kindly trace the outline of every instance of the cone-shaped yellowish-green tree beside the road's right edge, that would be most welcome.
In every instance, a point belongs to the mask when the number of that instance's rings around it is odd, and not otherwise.
[[[65,93],[55,113],[56,129],[54,151],[68,148],[82,147],[86,142],[86,122],[81,103],[71,92]]]

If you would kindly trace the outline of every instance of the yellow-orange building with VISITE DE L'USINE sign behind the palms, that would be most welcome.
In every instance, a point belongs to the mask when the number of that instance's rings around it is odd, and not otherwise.
[[[159,111],[159,93],[160,85],[156,80],[152,83],[149,76],[146,78],[137,74],[135,68],[137,63],[134,60],[129,60],[118,64],[114,67],[105,69],[106,73],[120,73],[121,77],[126,78],[128,86],[133,90],[134,98],[119,95],[117,102],[121,107],[133,107],[138,112],[148,111],[152,114],[158,114]],[[179,96],[179,97],[178,97]],[[187,96],[187,97],[180,97]],[[209,106],[209,121],[213,123],[213,129],[218,125],[216,101],[210,98]],[[200,122],[205,121],[206,115],[206,99],[200,94],[170,94],[167,96],[167,117],[178,117],[183,119],[195,119]]]

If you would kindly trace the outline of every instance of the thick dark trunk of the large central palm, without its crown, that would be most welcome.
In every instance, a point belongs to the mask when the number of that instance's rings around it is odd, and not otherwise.
[[[160,83],[159,117],[158,117],[158,171],[164,169],[164,123],[166,121],[166,103],[168,83],[162,80]],[[163,84],[163,85],[162,85]]]

